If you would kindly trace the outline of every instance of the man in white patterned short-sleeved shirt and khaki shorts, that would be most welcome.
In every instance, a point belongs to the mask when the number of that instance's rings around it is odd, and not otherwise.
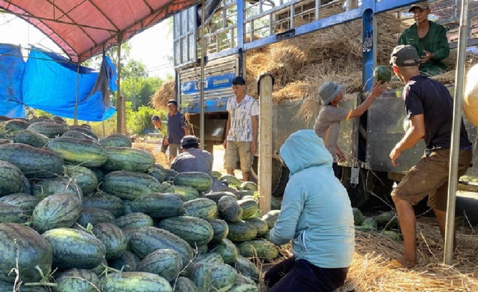
[[[249,180],[252,154],[258,149],[259,105],[246,94],[246,81],[241,76],[232,80],[234,95],[227,102],[228,119],[224,148],[224,168],[234,175],[237,160],[241,163],[242,180]]]

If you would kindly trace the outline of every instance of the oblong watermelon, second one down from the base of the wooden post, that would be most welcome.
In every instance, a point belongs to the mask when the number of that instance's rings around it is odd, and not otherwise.
[[[106,171],[144,172],[154,168],[154,156],[150,152],[130,147],[106,147]]]

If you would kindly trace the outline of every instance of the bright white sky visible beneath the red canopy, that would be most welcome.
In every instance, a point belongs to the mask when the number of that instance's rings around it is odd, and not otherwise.
[[[168,75],[174,76],[173,64],[167,59],[168,55],[173,55],[173,36],[168,23],[168,20],[164,20],[128,41],[131,45],[131,58],[141,61],[146,66],[149,76],[161,79],[166,79]],[[31,44],[54,52],[62,52],[40,30],[8,13],[0,14],[0,43],[20,44],[25,48]],[[28,56],[28,51],[24,50],[23,55]]]

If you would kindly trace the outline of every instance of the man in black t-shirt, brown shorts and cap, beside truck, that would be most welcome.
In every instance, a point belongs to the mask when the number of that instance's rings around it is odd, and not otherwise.
[[[401,152],[421,139],[427,145],[425,155],[392,191],[405,248],[403,255],[393,260],[391,266],[413,267],[417,264],[417,257],[416,220],[412,205],[428,195],[428,206],[435,212],[442,236],[445,235],[453,99],[442,83],[420,74],[420,59],[412,46],[395,47],[390,63],[397,77],[405,83],[403,100],[410,119],[410,128],[390,152],[392,165],[397,166]],[[472,158],[463,119],[459,139],[458,177],[461,177]],[[456,248],[455,239],[453,247]]]

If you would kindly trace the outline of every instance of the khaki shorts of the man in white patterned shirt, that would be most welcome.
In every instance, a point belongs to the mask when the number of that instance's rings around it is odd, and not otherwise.
[[[237,160],[241,162],[241,171],[251,171],[252,153],[251,142],[227,141],[226,153],[224,154],[224,168],[236,169]]]

